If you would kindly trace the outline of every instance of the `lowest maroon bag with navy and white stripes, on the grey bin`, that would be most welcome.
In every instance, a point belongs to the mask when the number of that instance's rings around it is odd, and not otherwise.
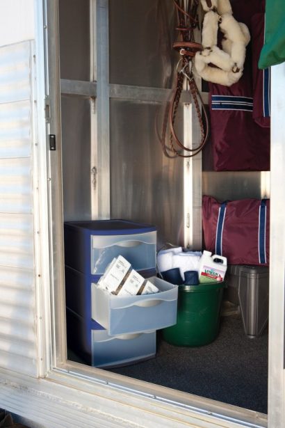
[[[205,249],[228,264],[269,263],[269,199],[218,202],[203,196]]]

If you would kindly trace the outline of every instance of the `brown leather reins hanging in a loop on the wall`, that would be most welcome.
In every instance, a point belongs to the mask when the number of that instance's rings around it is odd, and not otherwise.
[[[189,0],[186,10],[183,7],[184,0],[173,0],[173,3],[177,12],[178,26],[176,29],[179,31],[179,38],[181,38],[181,40],[174,42],[173,47],[174,49],[179,51],[181,58],[177,63],[174,94],[170,102],[168,116],[168,125],[170,129],[170,146],[167,146],[164,141],[163,152],[168,157],[193,157],[198,154],[202,150],[202,148],[204,148],[204,145],[206,144],[206,141],[209,136],[208,116],[204,103],[202,102],[202,97],[199,93],[199,89],[197,88],[192,69],[193,57],[195,56],[197,51],[201,51],[203,49],[202,45],[195,42],[194,39],[194,29],[199,25],[197,18],[197,8],[199,1]],[[177,116],[177,109],[179,106],[185,80],[187,81],[188,90],[190,91],[191,97],[193,99],[195,111],[199,120],[201,141],[196,148],[187,148],[183,143],[181,143],[180,139],[177,136],[177,132],[174,129],[174,122]],[[188,154],[183,154],[184,151],[188,152]],[[170,152],[172,152],[172,155],[170,155]]]

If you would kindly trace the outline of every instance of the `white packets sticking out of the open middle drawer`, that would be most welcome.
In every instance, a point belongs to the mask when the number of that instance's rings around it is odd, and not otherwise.
[[[137,294],[152,294],[159,292],[149,280],[133,270],[122,255],[114,258],[105,273],[99,279],[97,287],[118,296],[136,296]]]

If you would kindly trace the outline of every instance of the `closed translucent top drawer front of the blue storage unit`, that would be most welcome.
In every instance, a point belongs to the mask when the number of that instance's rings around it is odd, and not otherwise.
[[[92,235],[91,274],[102,275],[114,257],[122,255],[133,269],[156,267],[156,232],[135,235]]]

